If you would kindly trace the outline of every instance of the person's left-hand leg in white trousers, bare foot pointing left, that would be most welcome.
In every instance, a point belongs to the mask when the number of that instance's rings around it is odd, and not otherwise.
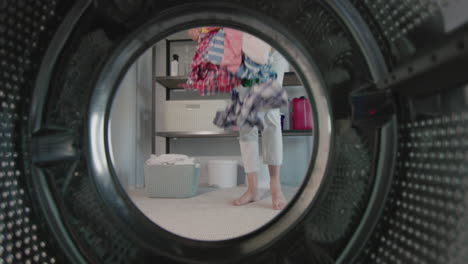
[[[258,172],[258,129],[242,127],[239,131],[239,144],[244,170],[247,176],[247,191],[232,202],[233,205],[244,205],[255,200],[257,195]]]

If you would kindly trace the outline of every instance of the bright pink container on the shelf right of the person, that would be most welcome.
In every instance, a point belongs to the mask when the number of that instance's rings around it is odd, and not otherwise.
[[[304,96],[294,98],[291,102],[291,121],[293,130],[312,129],[312,112],[309,100]]]

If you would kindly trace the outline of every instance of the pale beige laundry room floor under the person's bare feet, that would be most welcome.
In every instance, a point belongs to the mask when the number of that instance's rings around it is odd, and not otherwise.
[[[288,202],[297,189],[283,186]],[[258,229],[280,212],[272,209],[268,189],[260,189],[255,202],[233,206],[231,202],[245,190],[244,186],[200,188],[198,195],[186,199],[149,198],[144,189],[130,189],[128,194],[149,219],[172,233],[195,240],[226,240]]]

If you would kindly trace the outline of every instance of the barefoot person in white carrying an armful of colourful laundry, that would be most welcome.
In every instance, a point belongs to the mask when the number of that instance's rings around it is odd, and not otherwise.
[[[198,41],[199,49],[192,64],[192,74],[196,77],[187,83],[188,87],[198,89],[202,95],[212,94],[218,88],[218,92],[232,94],[233,102],[225,112],[218,112],[214,121],[222,127],[240,127],[239,144],[247,190],[232,204],[241,206],[256,200],[260,128],[263,162],[268,165],[270,175],[272,207],[283,209],[286,199],[280,181],[283,140],[279,107],[287,104],[282,83],[288,62],[265,42],[238,30],[205,27],[191,29],[189,35]],[[202,63],[203,67],[197,67],[195,60],[200,58],[207,63]],[[215,87],[205,87],[210,85]]]

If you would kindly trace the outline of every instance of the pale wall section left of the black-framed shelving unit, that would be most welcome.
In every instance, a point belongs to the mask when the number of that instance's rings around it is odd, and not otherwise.
[[[111,112],[111,146],[117,176],[126,188],[143,187],[143,164],[151,154],[152,52],[128,70]]]

